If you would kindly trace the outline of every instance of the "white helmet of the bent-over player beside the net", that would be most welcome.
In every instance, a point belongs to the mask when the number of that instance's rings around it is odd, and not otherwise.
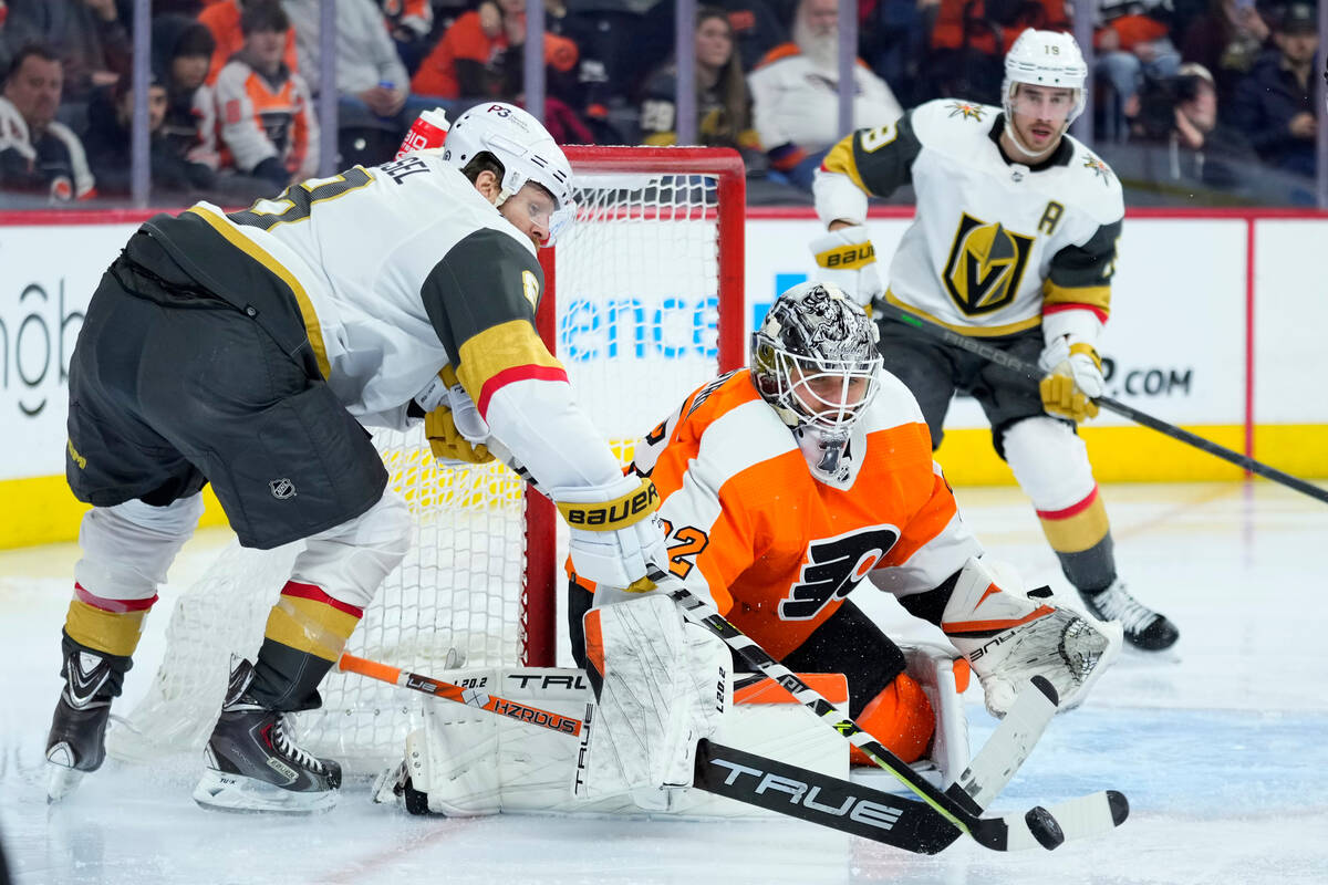
[[[442,159],[461,169],[475,154],[485,151],[493,154],[503,167],[499,206],[527,182],[534,182],[552,194],[555,203],[544,245],[552,244],[571,228],[576,219],[572,167],[538,119],[515,105],[475,105],[448,130]]]

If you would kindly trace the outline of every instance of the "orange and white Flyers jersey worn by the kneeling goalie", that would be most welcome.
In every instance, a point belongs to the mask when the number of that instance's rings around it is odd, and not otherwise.
[[[981,548],[931,458],[908,389],[882,373],[842,483],[813,476],[746,370],[700,387],[636,448],[663,498],[669,568],[776,658],[869,575],[896,596],[940,585]]]

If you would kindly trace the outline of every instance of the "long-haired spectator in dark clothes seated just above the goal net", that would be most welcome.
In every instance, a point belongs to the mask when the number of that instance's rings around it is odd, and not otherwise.
[[[641,131],[647,145],[676,145],[677,65],[669,64],[645,82]],[[764,167],[761,142],[752,129],[752,100],[742,62],[733,46],[733,28],[724,9],[701,7],[696,13],[696,117],[699,143],[734,147]]]

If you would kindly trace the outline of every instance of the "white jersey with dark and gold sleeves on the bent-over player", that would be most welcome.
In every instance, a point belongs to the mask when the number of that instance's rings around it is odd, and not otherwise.
[[[404,429],[410,402],[450,365],[546,487],[622,476],[535,332],[544,277],[534,243],[441,151],[309,179],[238,212],[198,203],[145,230],[242,309],[246,289],[293,300],[299,346],[361,423]]]

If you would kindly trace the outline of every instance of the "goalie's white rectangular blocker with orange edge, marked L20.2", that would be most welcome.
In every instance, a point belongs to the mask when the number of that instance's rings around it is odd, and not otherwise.
[[[631,793],[641,808],[668,808],[668,789],[692,784],[696,743],[733,707],[728,646],[687,624],[663,593],[596,605],[583,624],[598,707],[574,792]]]

